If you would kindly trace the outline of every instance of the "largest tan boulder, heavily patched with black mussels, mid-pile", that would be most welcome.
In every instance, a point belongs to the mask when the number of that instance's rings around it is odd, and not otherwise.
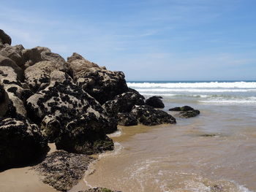
[[[41,124],[42,134],[54,142],[61,131],[80,115],[93,112],[105,120],[102,134],[116,131],[116,121],[106,115],[102,106],[78,85],[72,83],[68,74],[54,71],[50,74],[50,85],[26,101],[29,117]],[[66,130],[67,131],[67,130]]]

